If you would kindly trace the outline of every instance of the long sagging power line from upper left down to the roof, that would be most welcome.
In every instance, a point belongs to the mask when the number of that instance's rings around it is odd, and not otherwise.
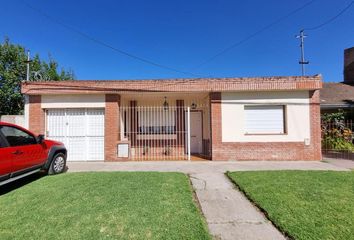
[[[132,53],[126,52],[126,51],[121,50],[121,49],[119,49],[119,48],[116,48],[116,47],[114,47],[114,46],[112,46],[112,45],[110,45],[110,44],[108,44],[108,43],[106,43],[106,42],[103,42],[102,40],[99,40],[99,39],[97,39],[97,38],[94,38],[94,37],[92,37],[92,36],[90,36],[90,35],[88,35],[88,34],[82,32],[82,31],[80,31],[80,30],[78,30],[78,29],[76,29],[76,28],[74,28],[74,27],[72,27],[72,26],[70,26],[70,25],[64,23],[64,22],[61,21],[61,20],[58,20],[58,19],[56,19],[56,18],[54,18],[54,17],[48,15],[48,14],[45,13],[44,11],[40,10],[39,8],[36,8],[36,7],[32,6],[31,4],[27,3],[26,1],[23,1],[23,0],[19,0],[19,1],[21,1],[21,2],[22,2],[24,5],[26,5],[28,8],[30,8],[30,9],[32,9],[33,11],[35,11],[35,12],[39,13],[40,15],[44,16],[44,17],[47,18],[48,20],[50,20],[50,21],[52,21],[52,22],[54,22],[54,23],[56,23],[56,24],[58,24],[58,25],[60,25],[60,26],[62,26],[62,27],[64,27],[64,28],[66,28],[66,29],[68,29],[68,30],[70,30],[70,31],[72,31],[72,32],[74,32],[74,33],[76,33],[76,34],[78,34],[78,35],[80,35],[80,36],[83,37],[83,38],[86,38],[86,39],[88,39],[88,40],[90,40],[90,41],[92,41],[92,42],[94,42],[94,43],[96,43],[96,44],[99,44],[99,45],[101,45],[101,46],[103,46],[103,47],[106,47],[106,48],[108,48],[108,49],[111,49],[111,50],[113,50],[113,51],[115,51],[115,52],[117,52],[117,53],[119,53],[119,54],[121,54],[121,55],[125,55],[125,56],[128,56],[128,57],[132,58],[132,59],[138,60],[138,61],[140,61],[140,62],[149,64],[149,65],[152,65],[152,66],[155,66],[155,67],[159,67],[159,68],[162,68],[162,69],[166,69],[166,70],[169,70],[169,71],[173,71],[173,72],[176,72],[176,73],[182,73],[182,74],[190,75],[190,76],[194,76],[194,77],[201,77],[201,75],[199,75],[199,74],[195,74],[195,73],[191,73],[191,72],[187,72],[187,71],[182,71],[182,70],[178,70],[178,69],[176,69],[176,68],[172,68],[172,67],[169,67],[169,66],[166,66],[166,65],[162,65],[162,64],[153,62],[153,61],[151,61],[151,60],[148,60],[148,59],[146,59],[146,58],[142,58],[142,57],[139,57],[139,56],[134,55],[134,54],[132,54]]]

